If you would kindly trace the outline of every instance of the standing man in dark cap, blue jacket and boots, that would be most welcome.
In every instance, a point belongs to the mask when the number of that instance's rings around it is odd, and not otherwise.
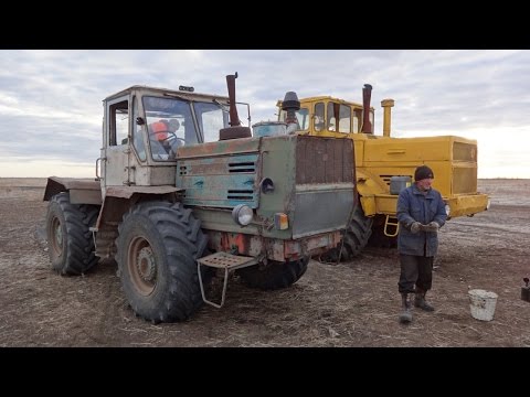
[[[438,229],[447,219],[445,203],[439,192],[432,187],[433,170],[427,165],[414,172],[414,183],[402,190],[398,198],[401,275],[398,282],[403,312],[400,322],[412,321],[409,294],[415,293],[414,305],[425,311],[434,308],[425,301],[433,285],[433,261],[438,248]]]

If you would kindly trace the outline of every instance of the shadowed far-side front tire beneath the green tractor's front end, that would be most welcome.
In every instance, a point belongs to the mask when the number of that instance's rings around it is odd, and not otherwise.
[[[306,272],[308,262],[308,257],[288,262],[269,261],[265,267],[248,266],[237,270],[237,273],[251,288],[277,290],[298,281]]]

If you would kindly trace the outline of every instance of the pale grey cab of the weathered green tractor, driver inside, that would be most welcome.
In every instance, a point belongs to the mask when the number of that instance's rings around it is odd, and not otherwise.
[[[250,107],[246,106],[250,119]],[[174,184],[179,148],[220,140],[229,97],[132,86],[104,99],[102,187]],[[97,167],[96,167],[97,168]],[[98,170],[99,171],[99,170]]]

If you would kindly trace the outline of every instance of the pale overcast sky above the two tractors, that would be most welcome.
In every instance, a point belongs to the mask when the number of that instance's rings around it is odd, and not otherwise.
[[[227,95],[234,72],[252,124],[276,119],[287,90],[362,103],[371,84],[377,135],[392,98],[394,137],[476,139],[479,178],[530,178],[530,51],[516,50],[3,50],[0,178],[92,178],[106,96],[136,84]]]

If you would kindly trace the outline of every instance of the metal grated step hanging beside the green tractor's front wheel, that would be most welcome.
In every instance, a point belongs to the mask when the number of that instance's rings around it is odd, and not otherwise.
[[[216,269],[224,269],[223,292],[221,294],[221,303],[209,301],[204,294],[204,286],[202,285],[201,265],[210,266]],[[202,300],[218,309],[224,304],[226,294],[226,285],[229,283],[229,271],[241,269],[247,266],[257,265],[256,258],[232,255],[229,253],[215,253],[197,260],[197,273],[199,275],[199,286],[201,287]]]

